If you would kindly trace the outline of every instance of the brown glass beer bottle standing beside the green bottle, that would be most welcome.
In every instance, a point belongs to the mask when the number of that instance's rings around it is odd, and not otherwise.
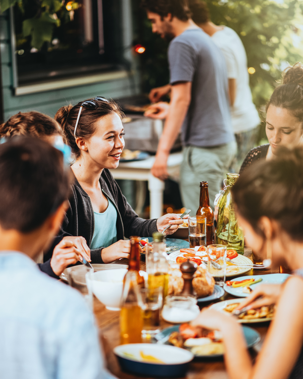
[[[214,212],[210,207],[207,181],[200,182],[200,206],[196,216],[206,217],[206,245],[213,245],[215,243]]]

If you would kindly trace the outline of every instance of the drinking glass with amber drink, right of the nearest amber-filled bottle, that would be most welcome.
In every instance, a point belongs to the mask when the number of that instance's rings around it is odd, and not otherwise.
[[[143,318],[142,338],[150,340],[160,331],[160,310],[163,303],[163,288],[140,289],[139,305]]]

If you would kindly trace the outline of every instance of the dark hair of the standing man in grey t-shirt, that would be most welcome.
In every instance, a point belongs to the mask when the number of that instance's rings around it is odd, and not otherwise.
[[[142,0],[141,6],[149,12],[166,17],[169,13],[181,21],[187,21],[191,17],[187,0]]]

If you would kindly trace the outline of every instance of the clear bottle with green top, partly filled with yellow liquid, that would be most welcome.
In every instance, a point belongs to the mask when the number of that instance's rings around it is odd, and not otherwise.
[[[148,254],[147,273],[148,273],[148,288],[163,288],[163,299],[168,294],[168,269],[169,261],[166,254],[165,237],[162,233],[153,233],[153,253]]]

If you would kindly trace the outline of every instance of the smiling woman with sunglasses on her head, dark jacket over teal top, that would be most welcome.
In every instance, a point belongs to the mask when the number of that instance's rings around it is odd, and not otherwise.
[[[64,236],[82,236],[92,263],[128,258],[130,241],[124,236],[151,236],[155,231],[173,233],[182,220],[168,214],[155,220],[139,218],[122,195],[109,169],[119,165],[124,148],[123,113],[103,97],[62,107],[55,119],[62,125],[75,158],[75,176],[69,209],[54,242]],[[52,255],[49,250],[47,255]]]

